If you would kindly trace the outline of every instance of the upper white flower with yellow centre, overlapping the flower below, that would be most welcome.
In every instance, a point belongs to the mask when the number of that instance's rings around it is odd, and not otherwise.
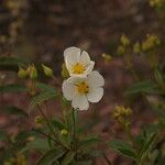
[[[87,76],[94,69],[95,62],[86,51],[80,51],[78,47],[68,47],[64,51],[64,61],[69,76]]]

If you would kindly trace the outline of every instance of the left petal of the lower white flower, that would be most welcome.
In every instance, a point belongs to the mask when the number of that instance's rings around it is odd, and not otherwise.
[[[67,100],[73,100],[75,95],[76,95],[76,91],[75,91],[75,86],[73,84],[70,84],[67,80],[65,80],[63,82],[63,87],[62,87],[62,90],[63,90],[63,95],[64,97],[67,99]]]

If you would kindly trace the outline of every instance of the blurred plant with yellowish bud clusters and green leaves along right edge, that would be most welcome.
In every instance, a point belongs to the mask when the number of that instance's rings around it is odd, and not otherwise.
[[[154,123],[147,123],[138,135],[134,135],[131,118],[133,110],[118,106],[112,111],[112,118],[122,128],[127,139],[112,140],[110,147],[133,160],[138,165],[164,164],[165,69],[164,62],[157,54],[160,45],[161,41],[154,34],[147,34],[144,40],[134,43],[127,35],[122,35],[117,50],[117,56],[123,58],[125,69],[133,81],[123,91],[125,100],[129,98],[130,105],[142,101],[156,114]],[[147,73],[139,68],[136,61],[145,61],[144,67]]]

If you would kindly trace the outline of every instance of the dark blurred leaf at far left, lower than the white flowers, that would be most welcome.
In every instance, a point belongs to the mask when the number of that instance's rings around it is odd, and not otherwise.
[[[18,117],[29,117],[25,111],[16,107],[6,107],[4,109],[2,109],[2,112],[8,114],[15,114]]]

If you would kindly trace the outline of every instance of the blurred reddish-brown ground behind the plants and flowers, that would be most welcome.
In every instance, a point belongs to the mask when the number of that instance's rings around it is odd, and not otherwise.
[[[123,59],[117,56],[120,36],[125,34],[132,42],[142,41],[146,34],[156,34],[162,41],[158,55],[164,59],[165,12],[164,7],[154,0],[1,0],[0,1],[0,56],[19,56],[30,63],[44,63],[61,77],[63,52],[69,46],[86,50],[96,61],[96,68],[106,78],[106,92],[100,103],[92,105],[91,111],[81,112],[94,132],[105,139],[122,136],[116,128],[110,112],[117,105],[125,102],[123,91],[132,81],[124,67]],[[161,2],[161,0],[160,0]],[[157,2],[158,3],[158,2]],[[112,61],[106,64],[102,53],[110,54]],[[136,67],[142,72],[145,59],[136,59]],[[10,72],[0,73],[1,84],[16,81]],[[41,75],[42,78],[42,75]],[[43,78],[44,81],[50,81]],[[25,95],[0,96],[0,108],[14,105],[29,109]],[[53,114],[59,107],[50,102]],[[133,105],[134,133],[145,122],[153,121],[153,113],[140,100]],[[97,113],[96,113],[97,111]],[[14,124],[13,124],[14,123]],[[19,124],[25,124],[16,117],[0,114],[0,128],[9,129],[14,134]],[[88,127],[88,131],[89,131]],[[114,165],[129,164],[114,153],[109,154]],[[123,163],[121,163],[123,162]],[[98,165],[100,160],[98,160]],[[131,163],[130,163],[131,164]]]

